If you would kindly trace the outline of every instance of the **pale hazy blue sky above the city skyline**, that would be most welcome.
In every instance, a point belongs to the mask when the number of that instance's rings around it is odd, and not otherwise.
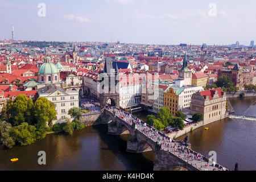
[[[0,40],[11,39],[14,26],[18,40],[249,46],[255,7],[255,0],[0,0]]]

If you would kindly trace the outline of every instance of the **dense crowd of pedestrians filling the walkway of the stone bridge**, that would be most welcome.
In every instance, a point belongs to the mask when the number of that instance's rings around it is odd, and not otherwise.
[[[141,119],[134,117],[131,113],[116,109],[114,106],[108,105],[106,106],[106,109],[113,111],[114,115],[123,119],[123,121],[131,125],[133,129],[141,131],[141,133],[153,140],[156,143],[156,147],[171,152],[197,169],[205,169],[208,171],[209,159],[188,148],[187,142],[184,142],[183,140],[177,142],[161,131],[156,130],[153,126],[143,122]],[[226,170],[224,167],[221,167],[220,164],[216,164],[215,162],[213,162],[211,166],[213,167],[212,170]]]

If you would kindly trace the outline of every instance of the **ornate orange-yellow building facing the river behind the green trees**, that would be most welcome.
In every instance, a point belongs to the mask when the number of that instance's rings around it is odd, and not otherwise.
[[[170,87],[167,92],[164,92],[164,107],[169,107],[172,115],[175,115],[177,111],[179,111],[179,93],[181,93],[183,90],[183,88],[174,89]]]

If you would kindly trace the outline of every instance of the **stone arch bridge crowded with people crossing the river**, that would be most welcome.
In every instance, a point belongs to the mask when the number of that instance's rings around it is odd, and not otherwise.
[[[104,120],[102,121],[103,123],[108,123],[108,134],[130,134],[130,139],[127,140],[127,152],[141,153],[149,150],[154,151],[154,170],[168,171],[176,166],[184,167],[189,171],[215,171],[219,169],[218,167],[226,169],[221,165],[217,167],[217,164],[215,166],[209,165],[206,167],[205,164],[207,164],[209,161],[204,156],[202,161],[195,158],[188,159],[188,154],[183,154],[182,152],[172,150],[165,145],[160,146],[157,143],[157,139],[149,137],[147,134],[143,133],[143,129],[147,128],[150,130],[151,126],[143,123],[142,121],[142,125],[135,125],[135,123],[130,121],[130,118],[127,117],[127,115],[129,114],[126,113],[126,116],[123,117],[123,115],[121,115],[117,109],[102,109],[100,118],[101,121]],[[163,135],[160,137],[161,141],[163,141],[162,137]],[[167,143],[169,143],[171,146],[180,145],[179,142],[170,142],[170,140],[168,140]],[[189,146],[187,148],[189,148]],[[197,155],[197,152],[191,150],[190,148],[189,151],[194,156]]]

